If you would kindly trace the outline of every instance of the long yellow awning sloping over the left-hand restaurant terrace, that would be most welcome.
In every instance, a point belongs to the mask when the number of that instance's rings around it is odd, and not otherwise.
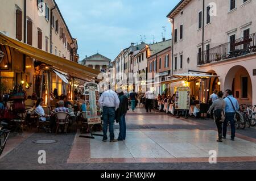
[[[76,62],[69,61],[41,49],[34,48],[18,40],[11,39],[2,33],[0,33],[0,44],[13,47],[19,50],[19,52],[27,54],[27,56],[30,56],[31,58],[35,58],[36,60],[42,61],[45,64],[54,66],[55,68],[74,77],[97,79],[97,76],[100,73],[100,71],[77,64]]]

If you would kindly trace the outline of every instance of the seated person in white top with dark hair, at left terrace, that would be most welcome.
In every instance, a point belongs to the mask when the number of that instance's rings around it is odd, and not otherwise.
[[[44,112],[44,109],[43,109],[43,102],[44,100],[42,98],[39,98],[37,101],[36,101],[36,109],[35,109],[35,112],[38,113],[38,115],[40,115],[39,117],[39,120],[40,121],[43,121],[43,122],[46,122],[46,121],[49,121],[50,122],[50,125],[47,128],[44,128],[47,132],[51,133],[51,125],[52,125],[52,119],[51,119],[51,116],[50,115],[47,115],[45,112]]]

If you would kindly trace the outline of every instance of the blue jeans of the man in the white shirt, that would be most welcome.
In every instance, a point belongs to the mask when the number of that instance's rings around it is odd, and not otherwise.
[[[108,140],[108,136],[106,135],[108,132],[108,124],[109,124],[109,136],[110,140],[114,140],[114,120],[115,120],[115,108],[113,107],[104,107],[103,108],[103,139]]]

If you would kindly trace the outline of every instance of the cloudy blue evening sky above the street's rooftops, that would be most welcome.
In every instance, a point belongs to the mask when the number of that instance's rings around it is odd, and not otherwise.
[[[130,43],[171,37],[166,15],[179,0],[56,0],[73,37],[78,39],[80,60],[94,53],[114,60]]]

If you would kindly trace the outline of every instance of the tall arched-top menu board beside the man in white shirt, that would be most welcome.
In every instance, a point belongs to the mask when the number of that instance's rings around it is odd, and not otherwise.
[[[86,104],[86,117],[88,124],[100,124],[101,123],[101,108],[98,106],[98,100],[100,99],[100,91],[97,83],[85,83],[84,95]]]

